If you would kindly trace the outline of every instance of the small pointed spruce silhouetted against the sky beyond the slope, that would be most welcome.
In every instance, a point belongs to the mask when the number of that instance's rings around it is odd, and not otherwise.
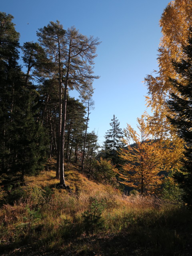
[[[112,129],[108,130],[105,135],[104,152],[106,158],[111,158],[115,164],[118,161],[118,149],[123,146],[121,142],[123,132],[122,129],[119,128],[120,122],[118,122],[115,115],[113,115],[111,121],[110,126],[112,126]]]

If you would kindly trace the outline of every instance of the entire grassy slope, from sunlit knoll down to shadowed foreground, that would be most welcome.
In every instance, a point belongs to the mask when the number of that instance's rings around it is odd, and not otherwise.
[[[2,255],[191,255],[190,211],[154,197],[122,196],[70,164],[69,193],[57,188],[54,162],[51,166],[26,177],[26,186],[7,197],[17,200],[0,209]],[[82,214],[90,217],[93,198],[94,210],[103,210],[91,234]]]

